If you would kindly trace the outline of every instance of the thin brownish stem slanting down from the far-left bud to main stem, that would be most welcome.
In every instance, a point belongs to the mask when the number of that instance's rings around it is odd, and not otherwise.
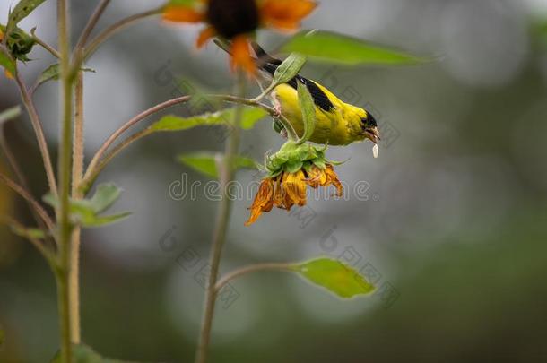
[[[21,92],[22,103],[25,105],[27,112],[29,113],[30,123],[34,129],[34,134],[36,134],[36,139],[38,141],[39,151],[42,155],[42,160],[44,163],[44,169],[46,169],[46,177],[48,177],[48,186],[51,193],[54,195],[57,194],[55,172],[53,171],[53,164],[51,163],[51,157],[49,156],[48,143],[46,142],[46,136],[44,136],[44,129],[42,128],[42,123],[39,120],[38,111],[34,106],[34,101],[30,97],[29,90],[24,84],[21,78],[21,74],[15,74],[15,81],[19,86],[19,91]]]

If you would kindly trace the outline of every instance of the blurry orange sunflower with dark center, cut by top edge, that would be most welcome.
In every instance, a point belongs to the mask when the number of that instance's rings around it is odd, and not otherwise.
[[[190,4],[167,5],[163,19],[169,22],[204,22],[196,39],[202,48],[213,37],[231,41],[230,65],[255,74],[249,40],[259,28],[297,30],[300,22],[317,6],[312,0],[195,0]]]

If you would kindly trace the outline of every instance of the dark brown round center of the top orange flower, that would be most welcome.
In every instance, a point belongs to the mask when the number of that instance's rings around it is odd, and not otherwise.
[[[259,25],[255,0],[210,0],[207,20],[223,37],[232,39],[256,30]]]

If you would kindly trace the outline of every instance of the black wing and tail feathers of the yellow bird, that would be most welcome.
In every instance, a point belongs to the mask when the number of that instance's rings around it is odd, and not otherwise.
[[[282,61],[267,54],[265,50],[255,42],[252,43],[252,46],[256,53],[256,64],[260,67],[260,69],[270,73],[273,76],[273,73],[275,73],[277,67],[282,64]],[[309,94],[311,94],[311,97],[318,108],[322,108],[326,111],[331,111],[334,109],[333,102],[326,97],[325,92],[317,86],[316,82],[310,81],[301,75],[297,75],[291,79],[291,81],[287,82],[287,84],[297,90],[298,82],[303,83],[306,87],[308,87]]]

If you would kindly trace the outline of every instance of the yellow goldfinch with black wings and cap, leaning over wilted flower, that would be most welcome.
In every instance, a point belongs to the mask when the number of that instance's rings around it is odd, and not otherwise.
[[[271,78],[282,61],[269,56],[256,43],[252,46],[258,59],[257,66],[268,78]],[[304,134],[297,92],[298,82],[307,86],[316,106],[316,128],[309,138],[310,142],[347,145],[369,139],[372,143],[378,143],[377,122],[366,109],[343,102],[326,87],[300,75],[290,82],[275,87],[272,93],[277,103],[276,108],[287,117],[297,134]]]

